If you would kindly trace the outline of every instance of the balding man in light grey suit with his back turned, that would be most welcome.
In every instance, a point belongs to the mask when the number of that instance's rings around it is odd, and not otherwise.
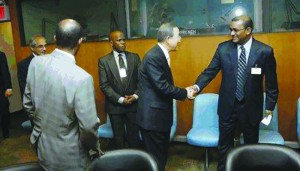
[[[101,150],[93,78],[75,61],[82,27],[62,20],[54,37],[57,48],[28,69],[23,105],[34,122],[30,141],[45,170],[87,170],[88,152]]]

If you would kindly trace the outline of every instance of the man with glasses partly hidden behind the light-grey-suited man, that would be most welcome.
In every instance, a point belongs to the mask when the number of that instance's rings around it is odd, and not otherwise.
[[[26,87],[26,78],[28,67],[33,57],[46,54],[46,39],[41,35],[35,35],[29,40],[31,55],[18,63],[18,80],[20,85],[21,97],[23,99],[24,90]]]

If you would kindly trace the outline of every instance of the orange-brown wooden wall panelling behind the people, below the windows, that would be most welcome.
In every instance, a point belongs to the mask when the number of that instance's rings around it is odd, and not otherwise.
[[[18,22],[15,9],[15,0],[10,1],[11,22],[14,32],[14,46],[17,61],[28,56],[29,49],[20,46]],[[296,101],[300,96],[300,64],[299,32],[255,34],[254,37],[271,45],[277,60],[277,73],[279,82],[279,128],[285,140],[297,140],[296,136]],[[182,38],[175,52],[171,52],[171,68],[177,86],[186,87],[194,84],[197,76],[209,64],[218,44],[230,39],[229,36],[198,36]],[[155,39],[136,39],[127,41],[127,50],[136,52],[142,58],[144,54],[156,43]],[[48,47],[51,52],[54,46]],[[98,59],[111,51],[108,41],[87,42],[79,50],[76,61],[94,77],[97,110],[103,122],[104,96],[98,82]],[[221,75],[219,74],[203,92],[218,93]],[[178,102],[177,134],[186,135],[192,125],[193,101]]]

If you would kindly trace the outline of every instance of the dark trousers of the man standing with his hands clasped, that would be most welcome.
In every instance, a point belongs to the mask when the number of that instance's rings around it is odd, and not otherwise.
[[[125,148],[125,139],[128,147],[139,149],[139,127],[136,124],[136,113],[109,114],[112,130],[114,134],[115,148]]]

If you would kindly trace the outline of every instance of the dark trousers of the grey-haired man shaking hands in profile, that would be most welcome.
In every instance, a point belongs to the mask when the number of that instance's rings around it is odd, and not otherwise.
[[[151,154],[158,165],[159,171],[164,171],[167,164],[169,148],[169,132],[158,132],[140,128],[146,151]]]

